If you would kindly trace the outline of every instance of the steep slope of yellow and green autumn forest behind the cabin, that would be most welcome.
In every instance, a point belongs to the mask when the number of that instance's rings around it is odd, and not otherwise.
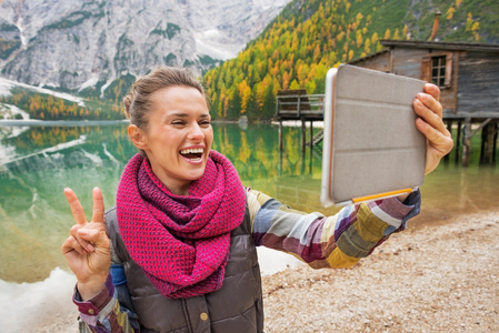
[[[325,92],[329,68],[381,50],[381,39],[499,43],[497,0],[293,0],[238,57],[204,74],[213,117],[269,119],[280,89]]]

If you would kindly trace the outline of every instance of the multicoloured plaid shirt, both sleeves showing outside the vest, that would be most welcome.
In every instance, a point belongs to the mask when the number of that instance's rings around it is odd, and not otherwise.
[[[405,203],[389,198],[325,216],[296,211],[251,189],[247,192],[255,244],[293,254],[315,269],[353,266],[391,233],[403,230],[419,213],[421,201],[417,191]],[[101,292],[87,302],[76,290],[80,332],[138,332],[136,315],[120,306],[116,294],[111,274]]]

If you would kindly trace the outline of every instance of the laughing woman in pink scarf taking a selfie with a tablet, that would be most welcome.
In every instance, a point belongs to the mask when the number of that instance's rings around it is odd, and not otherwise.
[[[427,84],[413,102],[428,139],[427,173],[452,148],[438,99]],[[352,266],[419,212],[419,192],[326,218],[244,189],[232,164],[210,150],[206,94],[182,69],[139,79],[124,107],[140,153],[123,171],[117,206],[104,214],[96,188],[87,222],[64,190],[76,224],[62,253],[78,279],[81,332],[262,332],[256,246],[312,268]]]

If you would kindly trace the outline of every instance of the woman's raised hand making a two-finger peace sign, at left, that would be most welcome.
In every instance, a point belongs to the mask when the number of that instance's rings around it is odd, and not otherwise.
[[[78,291],[84,301],[103,287],[111,264],[110,241],[103,223],[104,203],[101,191],[94,188],[92,221],[87,222],[77,194],[71,189],[64,189],[64,195],[76,224],[71,228],[71,235],[62,244],[61,251],[77,275]]]

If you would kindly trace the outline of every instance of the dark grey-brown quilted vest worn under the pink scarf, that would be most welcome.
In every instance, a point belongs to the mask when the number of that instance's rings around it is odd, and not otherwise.
[[[190,299],[164,297],[124,248],[116,209],[106,213],[113,261],[124,266],[127,285],[141,332],[252,333],[263,331],[260,266],[251,236],[248,208],[231,233],[229,262],[220,290]]]

